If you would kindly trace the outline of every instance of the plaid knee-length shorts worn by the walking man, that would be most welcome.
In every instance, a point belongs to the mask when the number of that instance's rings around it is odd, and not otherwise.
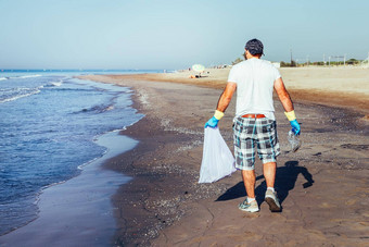
[[[255,169],[255,146],[263,163],[276,162],[280,153],[276,121],[238,116],[233,122],[237,169]]]

